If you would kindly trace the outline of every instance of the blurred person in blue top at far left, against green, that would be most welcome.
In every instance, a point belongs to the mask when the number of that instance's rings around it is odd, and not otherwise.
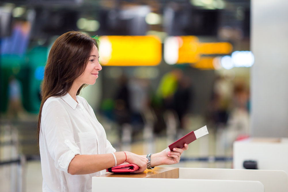
[[[21,84],[14,75],[9,78],[8,85],[8,111],[7,116],[9,119],[17,118],[24,112],[22,105],[22,90]]]

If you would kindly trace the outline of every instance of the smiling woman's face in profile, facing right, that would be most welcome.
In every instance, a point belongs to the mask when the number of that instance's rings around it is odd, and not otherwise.
[[[93,50],[89,56],[87,66],[84,73],[76,80],[79,84],[93,85],[98,78],[98,73],[102,69],[99,63],[99,53],[97,47],[94,45]]]

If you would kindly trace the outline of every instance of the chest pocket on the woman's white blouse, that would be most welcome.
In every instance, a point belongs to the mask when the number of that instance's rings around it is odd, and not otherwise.
[[[95,132],[78,133],[82,155],[97,154],[97,138]]]

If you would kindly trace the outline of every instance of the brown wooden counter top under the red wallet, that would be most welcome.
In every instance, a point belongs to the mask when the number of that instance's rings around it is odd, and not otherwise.
[[[155,167],[142,173],[107,173],[98,177],[134,177],[134,178],[179,178],[179,168]]]

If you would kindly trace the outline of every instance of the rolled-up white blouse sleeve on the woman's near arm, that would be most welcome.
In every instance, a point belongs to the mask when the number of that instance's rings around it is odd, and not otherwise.
[[[44,126],[40,136],[45,137],[55,167],[68,173],[71,160],[80,155],[80,150],[74,140],[71,119],[59,101],[47,103],[45,111],[42,111],[41,125]]]

